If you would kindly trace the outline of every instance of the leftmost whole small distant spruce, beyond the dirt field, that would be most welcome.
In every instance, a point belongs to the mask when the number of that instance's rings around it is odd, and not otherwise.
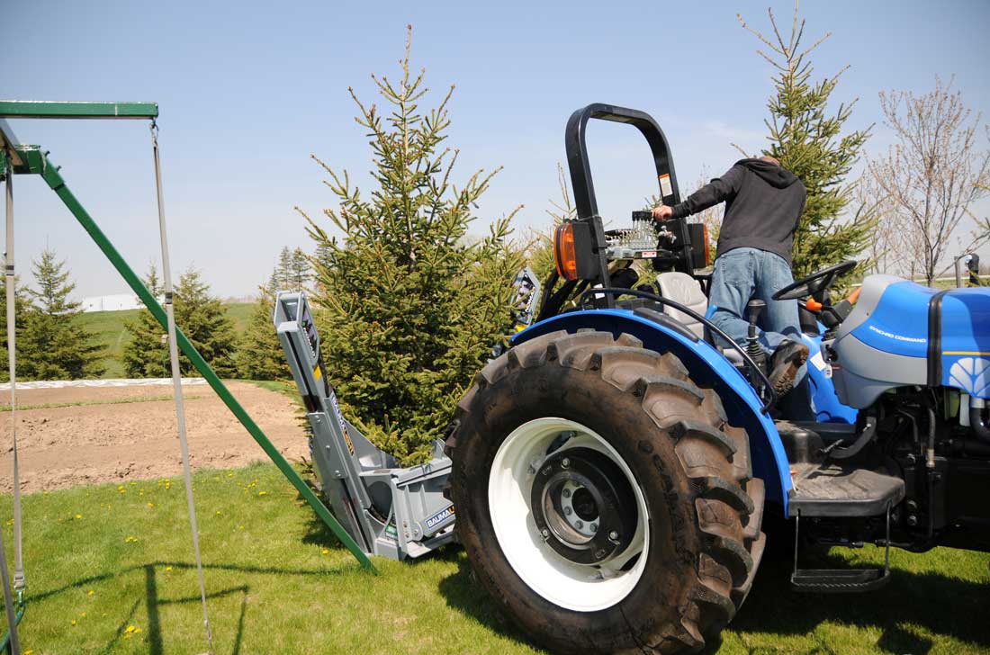
[[[37,290],[26,289],[34,300],[18,333],[18,377],[25,380],[78,380],[99,377],[103,346],[79,320],[81,303],[69,296],[75,284],[70,271],[46,248],[40,260],[32,261]],[[6,311],[6,310],[5,310]]]

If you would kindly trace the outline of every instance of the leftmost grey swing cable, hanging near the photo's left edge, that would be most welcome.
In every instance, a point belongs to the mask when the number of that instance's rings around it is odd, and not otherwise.
[[[10,366],[10,435],[14,447],[14,586],[18,594],[24,590],[24,560],[21,551],[21,477],[17,463],[17,306],[14,294],[14,167],[7,158],[7,247],[6,259],[7,286],[7,362]],[[3,600],[7,609],[7,626],[10,632],[10,647],[13,655],[20,655],[21,641],[17,636],[17,618],[14,615],[14,601],[10,593],[10,578],[7,572],[7,552],[0,539],[0,584],[3,584]]]

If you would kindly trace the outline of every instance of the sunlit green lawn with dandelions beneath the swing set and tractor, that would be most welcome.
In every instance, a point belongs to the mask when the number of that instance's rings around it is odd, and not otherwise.
[[[363,572],[274,466],[195,477],[217,653],[534,653],[449,547]],[[10,497],[0,519],[8,554]],[[57,653],[201,653],[181,479],[25,497],[29,605],[22,645]],[[783,549],[786,552],[786,548]],[[882,551],[833,549],[878,563]],[[720,653],[990,650],[990,555],[893,551],[894,581],[868,596],[799,596],[790,561],[765,562]]]

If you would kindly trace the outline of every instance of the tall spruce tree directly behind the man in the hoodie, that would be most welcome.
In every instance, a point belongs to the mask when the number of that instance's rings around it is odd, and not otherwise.
[[[873,211],[859,207],[847,215],[852,188],[845,176],[859,157],[869,129],[845,131],[855,101],[829,109],[830,97],[844,68],[832,77],[812,79],[810,53],[831,34],[811,47],[802,46],[805,21],[799,19],[798,3],[790,36],[784,39],[773,11],[768,10],[773,40],[739,20],[771,51],[757,52],[773,66],[775,93],[767,102],[770,118],[764,123],[770,145],[763,150],[780,160],[808,190],[804,214],[794,234],[794,276],[802,277],[820,268],[855,257],[869,242],[876,224]],[[744,152],[743,152],[744,154]]]

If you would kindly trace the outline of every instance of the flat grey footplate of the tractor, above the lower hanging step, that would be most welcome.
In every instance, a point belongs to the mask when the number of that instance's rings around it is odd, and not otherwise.
[[[797,464],[788,492],[790,515],[876,516],[904,500],[904,480],[836,463]]]

